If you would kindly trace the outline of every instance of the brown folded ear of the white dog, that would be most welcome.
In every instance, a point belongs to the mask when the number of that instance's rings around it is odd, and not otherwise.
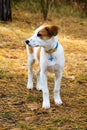
[[[45,27],[45,29],[47,30],[50,36],[56,36],[59,30],[57,26],[48,26]]]

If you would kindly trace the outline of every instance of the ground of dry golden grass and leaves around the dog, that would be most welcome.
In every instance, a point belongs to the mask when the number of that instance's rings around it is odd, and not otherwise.
[[[0,23],[0,130],[87,129],[87,20],[53,17],[47,21],[59,26],[58,38],[66,59],[61,82],[63,104],[54,104],[54,75],[49,74],[51,108],[47,110],[41,108],[42,92],[35,89],[37,66],[34,89],[26,88],[25,40],[43,22],[39,14],[15,11],[12,23]]]

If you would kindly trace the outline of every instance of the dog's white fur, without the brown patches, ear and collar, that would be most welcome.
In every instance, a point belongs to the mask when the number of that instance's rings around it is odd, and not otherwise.
[[[54,85],[54,101],[55,104],[59,105],[62,104],[62,100],[60,97],[60,83],[62,78],[62,71],[65,63],[64,59],[64,50],[62,45],[59,43],[57,36],[53,36],[49,40],[42,40],[37,36],[38,31],[40,31],[44,26],[39,27],[36,29],[34,35],[29,38],[29,44],[34,47],[34,54],[30,54],[27,47],[28,53],[28,83],[27,88],[33,89],[33,73],[32,73],[32,62],[33,60],[37,60],[36,53],[39,45],[41,47],[40,52],[40,69],[37,75],[37,89],[42,90],[43,92],[43,108],[50,108],[50,100],[49,100],[49,90],[47,85],[47,72],[52,72],[55,74],[55,85]],[[57,50],[52,53],[53,60],[50,61],[49,57],[50,54],[46,53],[45,50],[54,49],[56,43],[58,42]]]

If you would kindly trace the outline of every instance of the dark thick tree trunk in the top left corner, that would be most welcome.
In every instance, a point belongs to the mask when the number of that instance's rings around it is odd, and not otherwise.
[[[0,20],[12,21],[10,0],[0,0]]]

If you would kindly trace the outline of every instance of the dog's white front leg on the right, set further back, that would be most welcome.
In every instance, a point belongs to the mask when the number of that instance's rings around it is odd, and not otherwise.
[[[62,78],[62,72],[58,72],[55,74],[55,86],[54,86],[54,101],[55,104],[59,105],[62,104],[62,100],[60,97],[60,83]]]

